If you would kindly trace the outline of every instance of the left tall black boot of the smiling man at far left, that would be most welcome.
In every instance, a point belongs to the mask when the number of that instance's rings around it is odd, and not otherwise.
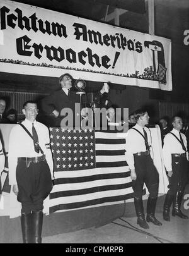
[[[23,243],[31,243],[31,213],[21,214],[20,220]]]

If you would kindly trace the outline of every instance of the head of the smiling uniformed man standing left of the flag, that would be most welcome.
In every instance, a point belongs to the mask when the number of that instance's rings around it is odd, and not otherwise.
[[[37,114],[38,114],[37,102],[26,101],[23,104],[22,112],[25,115],[26,119],[28,119],[31,122],[35,121],[35,119],[37,118]]]

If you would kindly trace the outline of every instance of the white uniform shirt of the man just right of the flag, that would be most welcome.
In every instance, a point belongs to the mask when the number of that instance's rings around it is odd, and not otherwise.
[[[133,128],[137,129],[144,135],[143,128],[136,124],[133,126]],[[151,133],[147,127],[144,127],[144,130],[147,133],[147,142],[148,145],[151,146],[152,143],[152,138],[151,138]],[[144,152],[146,151],[146,145],[144,138],[142,135],[140,135],[138,131],[135,131],[134,129],[130,129],[127,133],[126,139],[126,144],[125,144],[125,156],[126,156],[126,161],[127,164],[129,165],[130,169],[134,169],[134,155],[137,152]]]

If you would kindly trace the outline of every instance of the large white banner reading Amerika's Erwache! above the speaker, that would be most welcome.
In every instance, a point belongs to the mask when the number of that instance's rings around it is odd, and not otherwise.
[[[0,71],[172,90],[171,40],[0,0]]]

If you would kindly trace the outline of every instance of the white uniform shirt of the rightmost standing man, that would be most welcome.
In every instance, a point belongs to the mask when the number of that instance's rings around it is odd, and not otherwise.
[[[180,140],[180,134],[179,131],[174,129],[171,131],[171,133],[174,133],[176,137]],[[186,143],[186,136],[181,133],[181,137],[183,139],[185,148],[187,149],[187,143]],[[164,165],[166,167],[167,171],[172,171],[172,157],[171,154],[182,154],[185,153],[185,150],[183,150],[181,143],[176,140],[176,138],[168,133],[163,140],[163,159],[164,159]],[[188,154],[187,154],[188,159]]]

